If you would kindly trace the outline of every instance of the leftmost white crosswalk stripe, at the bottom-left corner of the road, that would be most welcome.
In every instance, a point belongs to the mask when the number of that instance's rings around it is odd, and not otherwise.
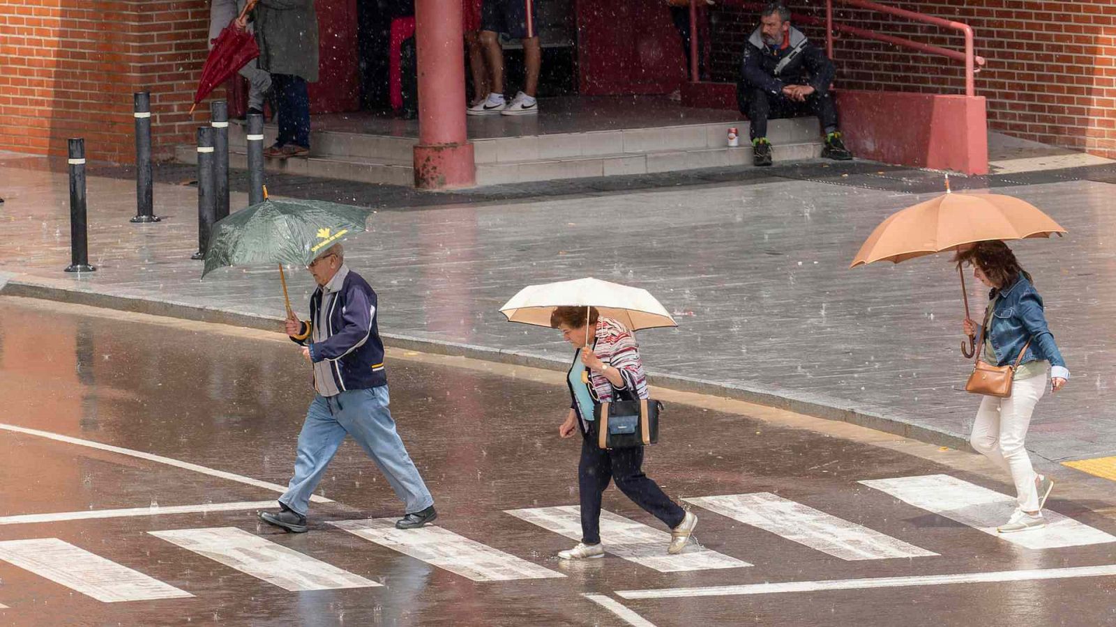
[[[0,559],[104,602],[193,596],[57,538],[0,542]]]

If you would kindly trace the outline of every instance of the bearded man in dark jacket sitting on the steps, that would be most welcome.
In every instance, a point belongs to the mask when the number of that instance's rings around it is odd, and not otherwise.
[[[744,58],[737,84],[740,113],[751,122],[754,165],[771,165],[769,118],[814,114],[826,135],[821,156],[837,161],[853,158],[837,129],[837,107],[829,84],[834,64],[820,48],[790,26],[790,10],[771,2],[760,13],[760,26],[744,45]]]

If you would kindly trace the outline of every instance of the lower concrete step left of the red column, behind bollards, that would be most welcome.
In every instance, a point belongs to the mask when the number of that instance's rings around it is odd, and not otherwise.
[[[193,146],[175,148],[175,161],[180,163],[198,163],[198,151]],[[248,168],[248,154],[244,148],[230,148],[229,166],[240,170]],[[340,179],[343,181],[359,181],[363,183],[383,183],[387,185],[414,185],[414,167],[410,163],[374,160],[364,157],[310,156],[305,158],[266,158],[266,172],[282,172],[299,176],[316,176],[320,179]]]

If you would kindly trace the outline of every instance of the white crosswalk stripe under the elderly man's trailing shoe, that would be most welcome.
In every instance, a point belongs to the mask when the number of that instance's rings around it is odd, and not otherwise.
[[[440,527],[395,529],[395,520],[389,518],[330,521],[329,524],[473,581],[565,577]]]

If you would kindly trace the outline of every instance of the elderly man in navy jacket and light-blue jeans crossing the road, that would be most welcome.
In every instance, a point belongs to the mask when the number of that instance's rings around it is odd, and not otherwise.
[[[405,515],[395,527],[422,527],[437,518],[437,512],[387,408],[376,292],[345,266],[340,244],[318,255],[308,269],[318,283],[310,296],[310,320],[301,321],[291,314],[287,335],[302,346],[302,355],[314,364],[317,395],[298,436],[295,476],[279,496],[280,510],[260,512],[260,520],[295,533],[306,531],[310,494],[348,434],[376,462],[403,501]]]

